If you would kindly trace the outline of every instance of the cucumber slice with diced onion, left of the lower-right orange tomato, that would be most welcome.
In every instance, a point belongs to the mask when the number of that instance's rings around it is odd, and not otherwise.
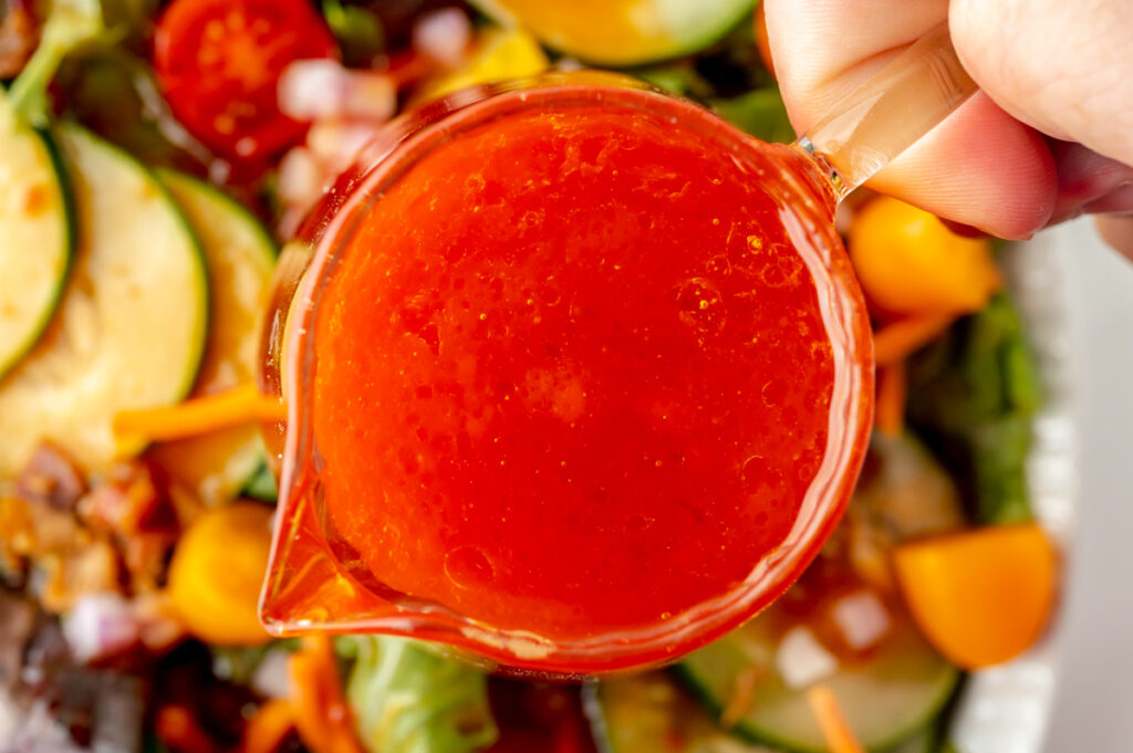
[[[774,621],[767,617],[765,613],[690,654],[680,665],[681,673],[717,713],[729,705],[736,687],[752,687],[748,710],[735,726],[738,733],[799,753],[824,753],[826,745],[806,692],[780,679],[777,639],[768,627]],[[885,751],[928,726],[959,678],[960,671],[908,619],[900,619],[868,660],[843,665],[823,683],[837,696],[861,744]]]

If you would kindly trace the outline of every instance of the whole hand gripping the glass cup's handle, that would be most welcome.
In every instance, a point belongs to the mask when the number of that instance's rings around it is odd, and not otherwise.
[[[1133,256],[1133,2],[765,2],[799,132],[948,19],[982,91],[871,188],[1003,238],[1082,213],[1128,215],[1108,221],[1106,233]]]

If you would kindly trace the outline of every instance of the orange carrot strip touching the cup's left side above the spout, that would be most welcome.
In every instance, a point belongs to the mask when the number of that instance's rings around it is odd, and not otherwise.
[[[114,433],[151,440],[184,439],[253,421],[286,420],[281,402],[245,384],[177,405],[121,411],[114,417]]]

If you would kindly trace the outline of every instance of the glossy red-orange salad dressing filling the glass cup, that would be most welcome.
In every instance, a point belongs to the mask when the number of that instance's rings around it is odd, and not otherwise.
[[[307,405],[323,527],[364,588],[582,642],[736,591],[804,507],[827,514],[793,546],[833,525],[868,425],[832,422],[846,345],[824,285],[844,253],[800,251],[764,168],[670,114],[602,99],[489,119],[341,249]],[[842,378],[868,387],[863,363]],[[849,482],[808,497],[847,442]]]

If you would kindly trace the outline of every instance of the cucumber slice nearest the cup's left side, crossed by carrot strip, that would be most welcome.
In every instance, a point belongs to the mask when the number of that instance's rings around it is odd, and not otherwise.
[[[204,248],[212,311],[205,358],[195,396],[229,390],[255,378],[259,317],[275,268],[275,243],[263,225],[231,198],[189,176],[160,170]],[[155,445],[150,455],[196,490],[206,504],[239,495],[263,463],[257,426]]]

